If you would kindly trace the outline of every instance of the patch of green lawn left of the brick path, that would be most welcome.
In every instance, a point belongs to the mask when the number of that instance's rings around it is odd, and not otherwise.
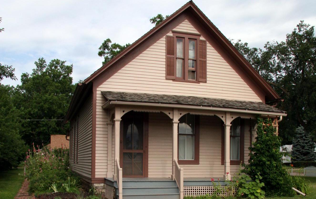
[[[23,168],[0,172],[0,199],[14,199],[23,181]]]

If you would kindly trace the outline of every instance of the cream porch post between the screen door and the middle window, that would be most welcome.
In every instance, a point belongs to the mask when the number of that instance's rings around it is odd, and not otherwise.
[[[173,121],[172,121],[172,175],[171,179],[174,180],[174,171],[176,164],[174,160],[178,161],[178,109],[173,109]]]

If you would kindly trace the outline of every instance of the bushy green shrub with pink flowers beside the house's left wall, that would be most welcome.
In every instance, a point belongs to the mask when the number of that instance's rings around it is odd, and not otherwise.
[[[40,149],[39,146],[35,149],[33,145],[33,150],[27,153],[25,165],[29,191],[79,193],[80,179],[69,168],[68,149]]]

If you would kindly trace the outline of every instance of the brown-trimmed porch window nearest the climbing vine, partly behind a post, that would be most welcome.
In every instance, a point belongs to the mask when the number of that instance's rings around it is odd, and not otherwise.
[[[244,163],[244,142],[245,142],[245,120],[240,117],[234,119],[230,126],[230,151],[229,159],[231,165],[239,165]],[[225,132],[222,126],[222,165],[224,164],[224,152],[225,152]]]

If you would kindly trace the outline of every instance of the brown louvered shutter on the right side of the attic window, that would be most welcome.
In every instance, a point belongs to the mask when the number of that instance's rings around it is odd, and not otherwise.
[[[198,81],[206,82],[206,41],[199,40],[198,48]]]

